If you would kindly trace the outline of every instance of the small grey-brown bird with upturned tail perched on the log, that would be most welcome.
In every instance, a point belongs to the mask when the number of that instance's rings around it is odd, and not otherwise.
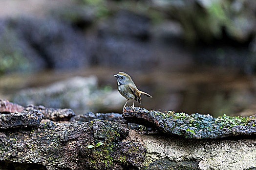
[[[133,105],[131,106],[131,109],[134,110],[134,101],[141,103],[141,98],[140,98],[141,94],[144,94],[152,98],[152,96],[150,96],[148,93],[138,90],[138,88],[133,83],[133,81],[131,80],[130,76],[127,73],[119,72],[117,75],[114,75],[114,76],[117,79],[117,88],[119,93],[127,99],[127,102],[129,100],[133,100]],[[127,102],[123,107],[123,112]]]

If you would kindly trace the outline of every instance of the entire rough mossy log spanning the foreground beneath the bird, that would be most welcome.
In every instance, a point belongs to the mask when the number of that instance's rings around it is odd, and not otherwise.
[[[99,120],[100,115],[113,121]],[[0,116],[0,169],[3,170],[249,170],[256,168],[256,139],[252,135],[255,133],[254,117],[214,119],[200,114],[188,116],[135,108],[135,112],[127,109],[123,114],[127,120],[120,120],[119,114],[110,113],[106,116],[86,113],[75,116],[70,109],[33,105],[24,108],[21,112],[7,113],[5,110]],[[190,120],[192,118],[193,122]],[[198,136],[192,134],[198,133],[201,136],[208,134],[208,131],[200,133],[202,130],[199,128],[200,121],[202,121],[201,125],[207,124],[205,122],[207,120],[203,118],[213,119],[211,123],[216,121],[217,124],[223,121],[220,124],[223,128],[233,130],[236,126],[242,126],[245,131],[248,129],[252,131],[249,132],[250,134],[239,131],[238,134],[234,133],[235,136],[198,139]],[[12,123],[8,124],[8,121]],[[154,127],[157,133],[131,130],[128,128],[128,121]],[[180,121],[183,121],[184,126],[181,126]],[[170,133],[171,127],[161,126],[165,124],[164,122],[173,122],[173,132],[177,132],[175,127],[186,126],[190,127],[191,131],[178,131],[183,132],[180,134]],[[232,122],[237,124],[233,125]],[[198,126],[197,129],[192,129],[194,125]]]

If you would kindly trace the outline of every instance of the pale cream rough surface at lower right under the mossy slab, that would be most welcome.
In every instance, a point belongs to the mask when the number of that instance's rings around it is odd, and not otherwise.
[[[143,170],[250,170],[256,167],[256,139],[186,139],[142,135],[131,131],[131,141],[147,149]]]

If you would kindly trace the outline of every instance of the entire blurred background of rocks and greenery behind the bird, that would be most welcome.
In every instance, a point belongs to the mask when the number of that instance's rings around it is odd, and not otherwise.
[[[136,106],[255,114],[256,0],[0,0],[0,98],[121,113],[119,71]]]

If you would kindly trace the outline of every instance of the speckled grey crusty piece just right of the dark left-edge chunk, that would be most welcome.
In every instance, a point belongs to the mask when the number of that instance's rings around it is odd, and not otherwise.
[[[45,108],[42,105],[35,106],[33,104],[30,104],[26,106],[25,110],[39,110],[41,113],[43,113],[43,119],[50,119],[53,121],[67,121],[75,116],[74,111],[71,109]]]

